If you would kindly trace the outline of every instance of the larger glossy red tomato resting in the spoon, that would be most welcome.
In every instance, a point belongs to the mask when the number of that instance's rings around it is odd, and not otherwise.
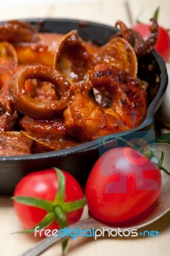
[[[157,200],[161,184],[160,170],[148,158],[132,148],[112,148],[89,174],[89,211],[104,223],[128,221]]]

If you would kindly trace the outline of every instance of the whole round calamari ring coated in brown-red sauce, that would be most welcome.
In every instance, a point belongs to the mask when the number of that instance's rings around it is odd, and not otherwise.
[[[38,102],[25,89],[26,79],[41,79],[54,84],[60,99],[54,102]],[[61,115],[71,99],[70,83],[54,68],[37,65],[22,68],[10,81],[10,96],[15,108],[22,114],[36,120],[52,120]]]

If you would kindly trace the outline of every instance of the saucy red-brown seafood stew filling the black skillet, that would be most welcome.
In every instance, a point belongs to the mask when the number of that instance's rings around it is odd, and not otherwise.
[[[152,22],[144,42],[118,21],[121,32],[104,45],[83,40],[77,29],[63,35],[28,22],[1,24],[1,156],[70,148],[143,124],[150,86],[137,71],[157,40]]]

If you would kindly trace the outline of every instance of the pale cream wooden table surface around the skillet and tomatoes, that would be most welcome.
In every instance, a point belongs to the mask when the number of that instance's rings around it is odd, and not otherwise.
[[[1,1],[2,2],[2,1]],[[130,15],[127,1],[123,0],[6,0],[1,3],[0,20],[26,19],[34,17],[63,17],[73,19],[93,20],[114,26],[116,20],[123,20],[128,26],[140,15],[140,20],[148,21],[153,11],[160,6],[159,23],[170,28],[169,0],[129,0]],[[1,179],[1,177],[0,177]],[[24,212],[23,212],[24,214]],[[82,218],[88,216],[84,209]],[[68,255],[70,256],[167,256],[170,241],[170,212],[147,230],[158,230],[159,237],[109,238],[104,237],[94,241],[93,238],[78,237],[69,241]],[[0,255],[19,256],[24,250],[36,244],[35,237],[27,234],[12,234],[22,230],[9,196],[0,196]],[[61,255],[61,244],[55,244],[42,254],[43,256]]]

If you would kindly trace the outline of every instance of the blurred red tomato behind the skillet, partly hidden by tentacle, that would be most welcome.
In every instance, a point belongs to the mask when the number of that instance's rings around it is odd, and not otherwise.
[[[139,23],[133,26],[133,29],[138,31],[143,39],[146,40],[150,34],[150,25]],[[155,44],[155,49],[160,53],[164,61],[168,62],[170,58],[170,37],[166,29],[159,26],[158,28],[158,40]]]

